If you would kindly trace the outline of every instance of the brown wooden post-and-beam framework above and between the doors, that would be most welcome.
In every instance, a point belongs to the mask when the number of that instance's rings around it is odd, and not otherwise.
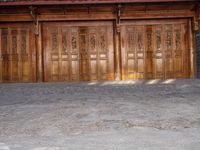
[[[194,31],[198,30],[199,4],[188,3],[154,3],[154,4],[108,4],[108,5],[74,5],[74,6],[18,6],[2,7],[0,9],[0,25],[7,23],[31,24],[31,32],[34,32],[33,43],[35,54],[33,54],[32,65],[35,66],[35,75],[28,82],[45,81],[45,53],[44,53],[44,24],[48,22],[85,22],[109,21],[113,28],[114,49],[114,78],[122,77],[122,24],[124,21],[143,20],[148,24],[149,20],[186,19],[188,21],[188,59],[189,77],[196,77],[196,48]],[[2,55],[2,54],[1,54]],[[34,58],[35,55],[35,58]],[[31,61],[32,62],[32,61]],[[30,62],[30,63],[31,63]],[[35,64],[34,64],[35,63]],[[34,67],[33,67],[34,68]],[[1,74],[2,70],[0,70]],[[33,73],[34,74],[34,73]],[[187,74],[187,73],[186,73]],[[187,75],[186,75],[187,76]],[[2,78],[2,77],[1,77]],[[20,81],[19,81],[20,82]]]

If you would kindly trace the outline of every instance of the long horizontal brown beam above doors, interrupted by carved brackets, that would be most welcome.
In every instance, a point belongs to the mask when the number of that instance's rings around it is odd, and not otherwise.
[[[195,17],[195,12],[127,12],[121,14],[121,19],[160,19],[160,18],[190,18]],[[195,17],[197,18],[197,17]],[[41,14],[37,16],[38,21],[78,21],[78,20],[115,20],[116,16],[113,13],[90,13],[90,14]],[[198,19],[196,19],[198,20]],[[33,21],[30,14],[0,15],[0,22],[21,22]]]

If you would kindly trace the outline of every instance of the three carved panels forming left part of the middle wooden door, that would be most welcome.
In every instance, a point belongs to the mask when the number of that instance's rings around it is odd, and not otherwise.
[[[78,28],[44,28],[46,81],[79,80]]]

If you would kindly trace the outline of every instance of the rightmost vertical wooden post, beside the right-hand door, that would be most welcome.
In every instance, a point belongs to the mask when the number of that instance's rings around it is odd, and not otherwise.
[[[194,20],[193,20],[194,21]],[[195,34],[192,20],[189,21],[189,50],[190,50],[190,78],[196,78],[196,49],[195,49]]]

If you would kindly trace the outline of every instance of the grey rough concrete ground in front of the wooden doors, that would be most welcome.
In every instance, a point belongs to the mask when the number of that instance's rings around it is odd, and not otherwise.
[[[200,80],[0,84],[0,150],[199,150]]]

